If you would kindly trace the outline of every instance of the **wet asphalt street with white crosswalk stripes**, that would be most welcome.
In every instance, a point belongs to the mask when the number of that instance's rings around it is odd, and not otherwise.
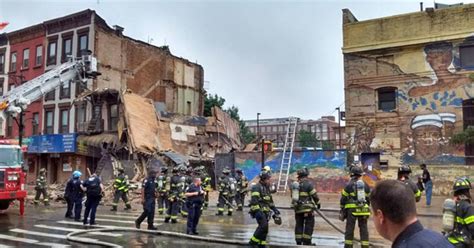
[[[252,236],[256,223],[247,210],[234,212],[233,216],[215,216],[216,209],[205,210],[198,226],[200,236],[210,238],[231,239],[246,242]],[[68,233],[93,229],[100,227],[134,227],[134,220],[141,213],[139,206],[134,206],[131,211],[118,212],[109,211],[108,206],[100,206],[97,213],[98,226],[84,227],[81,222],[74,222],[64,218],[65,208],[59,204],[56,206],[31,206],[26,209],[23,217],[20,217],[15,207],[0,214],[0,247],[92,247],[91,245],[79,244],[66,240]],[[337,219],[336,212],[325,212],[325,214],[340,228],[344,228],[344,223]],[[155,216],[155,224],[159,230],[184,233],[185,220],[180,219],[177,224],[166,224],[163,222],[164,216]],[[270,232],[267,241],[270,244],[281,246],[292,246],[294,241],[294,220],[291,210],[282,210],[283,224],[277,226],[271,221]],[[439,218],[421,218],[422,223],[430,227],[430,223],[438,223]],[[145,221],[146,222],[146,221]],[[373,228],[372,221],[369,221],[371,229],[371,242],[377,246],[388,246]],[[142,224],[142,229],[146,229],[146,223]],[[436,228],[435,228],[436,229]],[[356,236],[358,231],[356,230]],[[153,235],[136,232],[96,232],[81,235],[99,241],[113,243],[123,247],[242,247],[239,245],[228,245],[212,242],[196,241],[187,238],[170,237],[166,235]],[[320,217],[316,218],[316,228],[313,234],[313,243],[319,247],[342,247],[343,235],[336,232],[332,227],[324,222]],[[99,246],[96,246],[99,247]]]

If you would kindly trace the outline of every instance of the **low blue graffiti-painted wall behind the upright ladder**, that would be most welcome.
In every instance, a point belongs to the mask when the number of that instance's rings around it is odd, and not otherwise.
[[[261,171],[261,154],[259,152],[236,152],[235,168],[244,171],[249,180],[258,180]],[[278,182],[282,152],[267,154],[265,165],[274,172],[273,181]],[[318,192],[340,192],[349,177],[345,171],[347,152],[335,151],[295,151],[293,152],[290,179],[296,179],[296,171],[307,167],[310,178],[316,184]]]

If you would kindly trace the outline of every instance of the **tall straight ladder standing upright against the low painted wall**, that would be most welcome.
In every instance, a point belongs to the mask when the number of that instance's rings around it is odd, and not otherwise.
[[[291,158],[293,157],[293,145],[295,144],[296,127],[298,126],[298,118],[289,117],[288,126],[286,128],[285,144],[281,157],[280,175],[278,177],[278,192],[285,192],[288,186],[288,177],[290,174]]]

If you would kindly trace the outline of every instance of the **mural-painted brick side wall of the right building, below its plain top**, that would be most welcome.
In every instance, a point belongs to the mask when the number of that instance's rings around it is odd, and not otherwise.
[[[474,96],[474,77],[460,64],[459,50],[466,44],[474,43],[465,39],[387,50],[382,55],[380,51],[345,54],[351,154],[381,152],[395,156],[401,164],[465,164],[464,147],[450,144],[450,139],[463,128],[463,100]],[[381,87],[397,88],[395,111],[378,110],[377,89]],[[383,122],[398,130],[387,132]],[[392,145],[381,145],[388,136],[385,144]]]

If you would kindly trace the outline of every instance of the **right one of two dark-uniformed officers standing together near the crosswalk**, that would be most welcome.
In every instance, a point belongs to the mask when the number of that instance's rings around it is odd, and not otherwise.
[[[97,206],[99,206],[99,202],[102,199],[102,192],[104,190],[104,186],[100,181],[100,178],[94,173],[89,177],[89,179],[85,180],[82,183],[82,190],[86,192],[87,200],[86,200],[86,211],[84,212],[84,225],[97,225],[95,222],[95,212],[97,211]],[[88,221],[90,213],[90,221]]]

